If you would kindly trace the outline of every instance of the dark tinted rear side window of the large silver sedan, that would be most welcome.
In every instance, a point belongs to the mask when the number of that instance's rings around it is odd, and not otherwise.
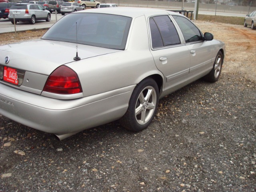
[[[155,16],[150,18],[149,24],[153,48],[180,44],[180,37],[169,16]]]

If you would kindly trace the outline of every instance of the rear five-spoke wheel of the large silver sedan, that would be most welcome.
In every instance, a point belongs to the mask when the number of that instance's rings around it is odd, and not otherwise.
[[[158,85],[152,78],[142,80],[134,88],[129,106],[120,122],[124,128],[139,132],[152,122],[158,106]]]

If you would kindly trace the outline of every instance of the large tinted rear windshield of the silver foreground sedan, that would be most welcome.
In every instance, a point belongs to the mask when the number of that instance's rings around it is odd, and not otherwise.
[[[124,50],[131,21],[130,17],[110,14],[68,14],[42,39],[76,43],[77,36],[79,44]]]

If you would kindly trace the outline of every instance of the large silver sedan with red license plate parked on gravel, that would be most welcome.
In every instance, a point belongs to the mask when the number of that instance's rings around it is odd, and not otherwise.
[[[218,81],[225,54],[178,13],[74,12],[41,39],[0,46],[0,114],[60,139],[118,119],[138,132],[160,98],[202,77]]]

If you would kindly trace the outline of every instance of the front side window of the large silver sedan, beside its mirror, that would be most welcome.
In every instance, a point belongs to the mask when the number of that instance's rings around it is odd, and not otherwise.
[[[203,40],[200,30],[190,20],[182,16],[173,16],[173,18],[178,23],[186,43]]]

